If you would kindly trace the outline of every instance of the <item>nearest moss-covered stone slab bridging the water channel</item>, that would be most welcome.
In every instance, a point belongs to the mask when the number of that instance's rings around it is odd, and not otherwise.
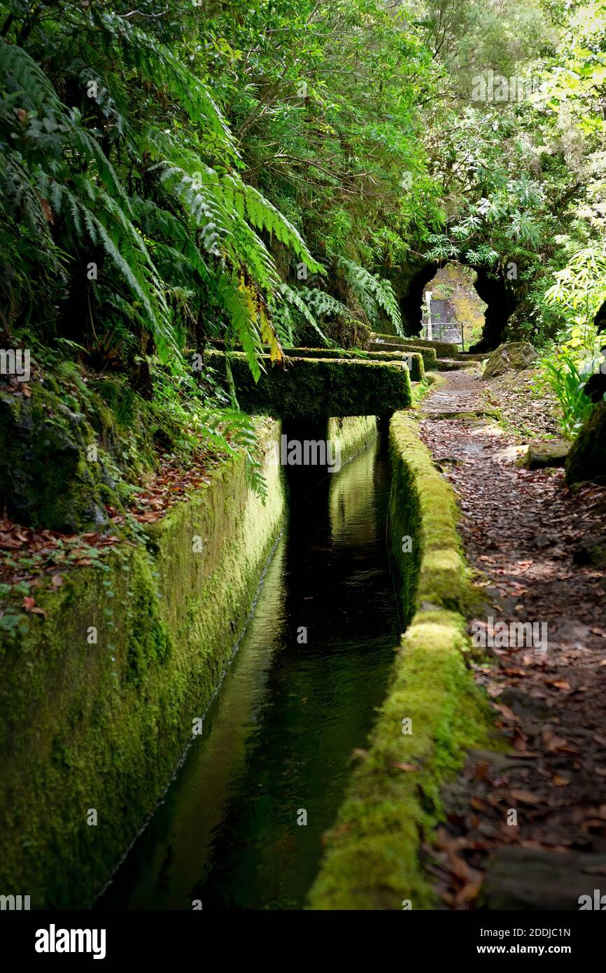
[[[214,368],[225,355],[207,351]],[[230,353],[240,408],[253,414],[321,421],[329,415],[391,415],[411,404],[410,376],[392,362],[286,358],[283,365],[262,360],[266,371],[255,382],[246,355]]]

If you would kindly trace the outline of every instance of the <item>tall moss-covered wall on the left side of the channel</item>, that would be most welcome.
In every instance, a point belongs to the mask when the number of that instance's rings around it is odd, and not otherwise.
[[[257,423],[266,459],[279,436]],[[229,664],[279,532],[234,457],[102,569],[37,594],[46,615],[5,639],[0,888],[31,907],[88,908],[154,811]]]

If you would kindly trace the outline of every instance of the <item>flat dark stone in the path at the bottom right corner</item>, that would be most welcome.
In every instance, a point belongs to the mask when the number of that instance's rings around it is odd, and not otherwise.
[[[488,862],[479,905],[490,910],[577,911],[587,905],[582,896],[593,901],[594,889],[600,887],[606,891],[606,854],[500,847]]]

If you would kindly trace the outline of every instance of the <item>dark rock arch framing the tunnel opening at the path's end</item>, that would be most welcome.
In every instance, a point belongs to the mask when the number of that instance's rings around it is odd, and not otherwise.
[[[466,351],[489,351],[501,341],[503,332],[511,315],[517,307],[517,295],[512,281],[507,280],[501,271],[488,270],[485,267],[464,265],[448,261],[432,261],[423,265],[410,267],[410,272],[404,276],[403,294],[400,297],[400,309],[405,334],[418,337],[423,330],[424,294],[432,290],[432,282],[440,271],[449,267],[460,268],[467,276],[470,271],[475,276],[468,276],[484,306],[484,320],[481,335],[478,327],[472,324],[471,331],[476,339],[471,346],[465,341]],[[439,278],[440,284],[443,284]],[[470,312],[473,308],[470,308]],[[474,314],[474,320],[475,314]],[[465,327],[465,326],[464,326]]]

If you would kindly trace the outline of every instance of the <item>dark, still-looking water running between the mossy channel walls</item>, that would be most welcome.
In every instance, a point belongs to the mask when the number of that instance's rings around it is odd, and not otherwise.
[[[400,626],[384,443],[336,474],[288,472],[288,523],[238,652],[97,909],[304,905]]]

